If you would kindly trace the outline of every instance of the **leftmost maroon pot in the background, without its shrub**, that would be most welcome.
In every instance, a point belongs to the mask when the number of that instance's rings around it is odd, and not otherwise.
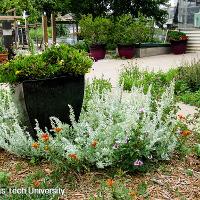
[[[95,44],[90,46],[90,56],[97,60],[104,59],[106,55],[106,48],[103,44]]]

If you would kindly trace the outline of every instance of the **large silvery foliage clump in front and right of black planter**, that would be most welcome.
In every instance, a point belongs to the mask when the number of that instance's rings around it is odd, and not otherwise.
[[[57,152],[57,158],[63,157],[68,162],[72,160],[70,155],[75,154],[80,162],[105,168],[117,162],[115,151],[136,134],[134,130],[139,129],[138,142],[140,140],[146,146],[144,152],[138,153],[139,149],[134,149],[133,154],[147,159],[170,159],[177,145],[174,85],[166,89],[159,101],[152,99],[150,89],[147,94],[142,91],[142,88],[133,88],[127,94],[121,90],[105,91],[101,96],[94,91],[79,122],[75,121],[70,107],[72,127],[52,117],[53,128],[60,127],[62,132],[50,139],[50,152]],[[41,135],[39,124],[36,129]]]

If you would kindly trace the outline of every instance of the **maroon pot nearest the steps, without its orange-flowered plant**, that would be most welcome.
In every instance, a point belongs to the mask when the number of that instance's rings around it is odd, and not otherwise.
[[[171,52],[173,54],[184,54],[187,49],[187,40],[173,41],[171,40]]]

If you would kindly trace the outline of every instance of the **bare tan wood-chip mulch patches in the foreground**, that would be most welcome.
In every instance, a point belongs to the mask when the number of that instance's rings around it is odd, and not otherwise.
[[[20,164],[20,170],[17,165]],[[33,166],[26,159],[16,157],[4,150],[0,150],[0,171],[10,173],[10,183],[23,180],[30,173],[43,170],[45,173],[52,171],[48,162]],[[188,172],[189,171],[189,172]],[[63,181],[65,196],[63,200],[83,200],[95,195],[100,181],[109,178],[104,172],[89,172],[86,174],[72,174],[75,177],[75,186],[71,187],[67,177]],[[65,179],[65,177],[63,177]],[[200,199],[200,160],[193,155],[184,159],[175,157],[168,164],[158,166],[157,170],[145,174],[124,174],[116,180],[123,182],[133,194],[133,199],[152,200],[198,200]],[[137,188],[142,183],[147,185],[145,195],[139,195]],[[108,198],[109,199],[109,198]]]

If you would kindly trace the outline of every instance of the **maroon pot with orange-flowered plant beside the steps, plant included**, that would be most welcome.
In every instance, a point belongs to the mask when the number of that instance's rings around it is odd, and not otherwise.
[[[169,31],[168,40],[171,43],[171,51],[174,54],[183,54],[187,49],[188,36],[180,31]]]

